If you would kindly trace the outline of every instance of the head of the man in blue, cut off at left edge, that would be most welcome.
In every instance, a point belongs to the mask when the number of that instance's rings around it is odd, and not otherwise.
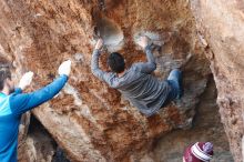
[[[0,91],[4,91],[6,93],[12,93],[14,91],[9,64],[0,64]]]

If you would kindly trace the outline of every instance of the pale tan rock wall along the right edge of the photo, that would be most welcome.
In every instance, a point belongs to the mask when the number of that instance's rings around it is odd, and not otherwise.
[[[209,42],[207,57],[217,87],[217,103],[236,162],[244,160],[242,144],[244,91],[244,2],[193,0],[197,29]]]

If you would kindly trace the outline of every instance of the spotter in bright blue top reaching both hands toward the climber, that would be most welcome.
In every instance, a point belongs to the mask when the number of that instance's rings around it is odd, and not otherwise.
[[[31,83],[33,72],[27,72],[14,88],[10,67],[0,64],[0,161],[17,162],[18,133],[21,115],[51,100],[64,87],[71,70],[71,61],[59,67],[59,78],[49,85],[30,92],[22,91]]]

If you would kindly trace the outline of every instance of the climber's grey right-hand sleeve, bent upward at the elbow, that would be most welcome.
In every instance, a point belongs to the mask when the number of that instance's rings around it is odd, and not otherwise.
[[[136,63],[136,68],[144,73],[152,73],[156,69],[155,58],[153,57],[151,45],[145,48],[148,62]]]

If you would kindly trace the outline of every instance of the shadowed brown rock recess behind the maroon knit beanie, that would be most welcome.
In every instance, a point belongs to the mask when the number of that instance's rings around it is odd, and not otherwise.
[[[155,162],[182,162],[183,151],[190,143],[211,141],[214,144],[214,159],[211,162],[234,162],[221,123],[213,78],[201,95],[191,130],[175,130],[156,140],[150,154],[152,159]]]

